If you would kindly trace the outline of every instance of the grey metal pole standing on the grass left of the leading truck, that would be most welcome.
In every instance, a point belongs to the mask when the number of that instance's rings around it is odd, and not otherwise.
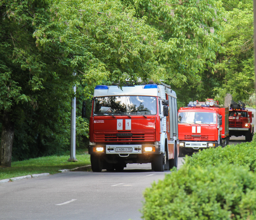
[[[73,72],[76,76],[76,72]],[[73,86],[74,93],[76,94],[76,85]],[[71,128],[70,128],[70,158],[68,161],[76,160],[76,97],[72,98],[71,105]]]

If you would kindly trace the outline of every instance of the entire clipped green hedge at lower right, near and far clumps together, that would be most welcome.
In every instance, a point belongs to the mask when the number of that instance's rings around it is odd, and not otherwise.
[[[251,143],[186,156],[144,192],[145,220],[256,219],[256,135]]]

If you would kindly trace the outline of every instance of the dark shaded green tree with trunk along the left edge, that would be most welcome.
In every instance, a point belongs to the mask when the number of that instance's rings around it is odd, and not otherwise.
[[[62,126],[60,121],[67,118],[64,106],[67,105],[67,97],[71,97],[72,79],[68,74],[71,71],[68,67],[60,68],[53,57],[45,56],[44,51],[38,50],[36,38],[33,37],[39,26],[49,22],[48,10],[47,1],[0,2],[2,166],[11,166],[15,130],[18,131],[15,147],[21,147],[17,156],[25,154],[28,143],[34,144],[34,147],[45,146],[56,140],[54,136],[58,136],[58,129]],[[63,138],[59,140],[65,141]],[[40,150],[43,151],[39,147]],[[38,156],[38,152],[33,155]]]

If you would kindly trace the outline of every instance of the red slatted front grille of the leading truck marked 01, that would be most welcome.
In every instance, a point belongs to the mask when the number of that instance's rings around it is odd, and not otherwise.
[[[120,131],[124,133],[124,131]],[[118,132],[94,132],[94,140],[95,142],[138,142],[138,141],[155,141],[156,134],[155,130],[146,130],[146,131],[132,131],[132,136],[120,136]],[[116,135],[118,134],[118,136]]]

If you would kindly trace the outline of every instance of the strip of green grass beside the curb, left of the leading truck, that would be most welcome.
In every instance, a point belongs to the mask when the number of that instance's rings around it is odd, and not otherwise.
[[[69,153],[63,156],[47,156],[25,161],[12,162],[11,167],[0,166],[0,180],[39,173],[59,173],[60,169],[74,169],[90,165],[90,155],[80,150],[76,152],[76,162],[69,162]]]

